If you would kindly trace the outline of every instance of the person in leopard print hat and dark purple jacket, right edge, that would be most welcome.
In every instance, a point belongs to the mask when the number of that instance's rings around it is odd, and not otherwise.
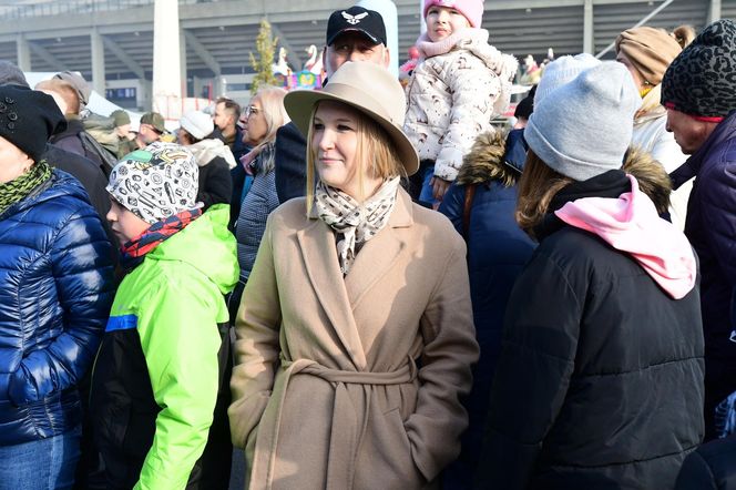
[[[715,407],[736,391],[736,23],[706,27],[662,80],[667,131],[689,159],[674,187],[696,177],[685,235],[701,264],[705,334],[705,439],[716,437]]]

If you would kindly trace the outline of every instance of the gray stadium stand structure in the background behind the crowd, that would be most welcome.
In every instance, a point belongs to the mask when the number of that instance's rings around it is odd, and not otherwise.
[[[152,78],[153,0],[0,1],[0,59],[27,71],[92,73],[92,44],[101,43],[108,80]],[[299,70],[306,49],[325,42],[329,13],[347,7],[334,0],[180,0],[183,60],[190,76],[251,72],[260,19],[270,21],[288,61]],[[403,61],[420,30],[419,0],[396,0]],[[647,25],[703,28],[736,17],[736,0],[485,0],[483,28],[503,52],[541,61],[555,55],[600,53],[622,30],[651,17]],[[653,16],[652,16],[653,14]],[[95,41],[96,40],[96,41]],[[100,50],[100,48],[98,48]],[[613,58],[613,52],[603,58]]]

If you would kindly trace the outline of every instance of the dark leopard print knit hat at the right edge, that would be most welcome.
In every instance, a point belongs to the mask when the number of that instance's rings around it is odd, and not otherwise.
[[[736,23],[706,27],[672,62],[662,80],[662,105],[701,118],[736,110]]]

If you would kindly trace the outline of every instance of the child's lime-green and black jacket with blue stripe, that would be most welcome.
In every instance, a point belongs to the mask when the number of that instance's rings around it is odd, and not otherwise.
[[[229,473],[223,295],[238,265],[228,220],[229,206],[212,206],[149,252],[117,289],[91,395],[109,488],[218,488],[213,479]]]

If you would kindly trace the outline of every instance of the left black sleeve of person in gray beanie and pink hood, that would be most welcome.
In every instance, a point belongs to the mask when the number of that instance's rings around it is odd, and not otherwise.
[[[528,488],[568,392],[583,304],[545,254],[535,254],[517,280],[491,388],[480,487]]]

